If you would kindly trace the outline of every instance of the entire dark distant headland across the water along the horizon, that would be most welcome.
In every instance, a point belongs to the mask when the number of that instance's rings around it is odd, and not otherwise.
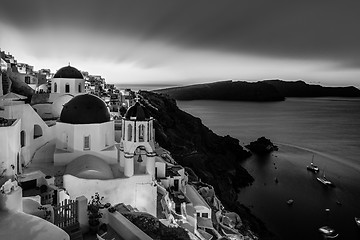
[[[218,81],[154,90],[176,100],[284,101],[286,97],[360,97],[356,87],[324,87],[304,81]]]

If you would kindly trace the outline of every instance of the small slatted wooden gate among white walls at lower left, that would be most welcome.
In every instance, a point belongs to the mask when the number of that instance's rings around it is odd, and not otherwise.
[[[62,229],[78,223],[78,202],[62,201],[54,207],[54,224]]]

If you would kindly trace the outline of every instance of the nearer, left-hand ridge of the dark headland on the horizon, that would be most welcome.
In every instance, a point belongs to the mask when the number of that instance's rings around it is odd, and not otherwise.
[[[177,100],[283,101],[285,98],[265,82],[220,81],[155,90]]]

